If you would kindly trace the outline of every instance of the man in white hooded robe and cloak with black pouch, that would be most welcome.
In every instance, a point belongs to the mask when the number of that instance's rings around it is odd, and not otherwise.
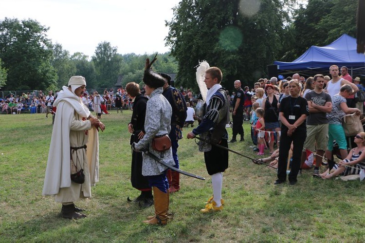
[[[62,203],[62,217],[80,219],[83,209],[73,202],[91,197],[91,186],[99,177],[98,132],[105,126],[93,117],[83,104],[86,81],[82,76],[72,76],[68,87],[63,86],[54,106],[57,107],[48,154],[43,195],[55,195],[55,201]],[[71,179],[83,169],[84,181],[75,183]],[[82,184],[79,184],[82,183]]]

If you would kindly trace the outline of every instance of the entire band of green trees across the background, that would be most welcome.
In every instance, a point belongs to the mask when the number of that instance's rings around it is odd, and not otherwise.
[[[198,91],[195,67],[201,60],[223,72],[222,85],[234,80],[252,87],[267,77],[274,60],[292,61],[311,45],[324,46],[346,33],[356,36],[354,0],[181,0],[173,8],[166,45],[156,72],[177,73],[176,84]],[[107,40],[89,57],[70,54],[47,37],[49,27],[33,19],[0,20],[0,87],[2,90],[61,88],[82,75],[90,88],[142,82],[146,57],[119,54]]]

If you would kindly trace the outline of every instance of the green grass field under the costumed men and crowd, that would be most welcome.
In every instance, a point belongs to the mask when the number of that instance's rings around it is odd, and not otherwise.
[[[166,226],[143,224],[153,207],[127,202],[130,185],[130,111],[103,115],[100,182],[92,198],[77,202],[87,218],[59,217],[60,205],[42,197],[52,119],[44,114],[0,115],[0,242],[364,242],[365,191],[360,181],[324,181],[304,171],[295,186],[274,186],[276,172],[230,153],[223,177],[223,211],[201,214],[212,195],[203,153],[194,140],[179,142],[181,190],[170,195],[174,218]],[[191,131],[185,128],[184,136]],[[231,134],[231,130],[229,133]],[[230,148],[256,157],[249,126],[245,142]],[[266,151],[268,153],[268,151]],[[324,168],[321,168],[323,170]]]

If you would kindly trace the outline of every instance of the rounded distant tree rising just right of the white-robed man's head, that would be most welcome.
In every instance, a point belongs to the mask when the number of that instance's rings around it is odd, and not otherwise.
[[[110,42],[99,43],[92,56],[96,70],[98,87],[113,87],[120,74],[122,56],[117,54],[117,47],[112,47]]]

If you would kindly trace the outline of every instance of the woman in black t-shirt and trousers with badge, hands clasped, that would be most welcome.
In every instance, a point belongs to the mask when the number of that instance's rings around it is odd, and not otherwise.
[[[281,125],[279,161],[277,180],[275,185],[286,181],[286,168],[288,152],[293,143],[292,168],[289,174],[289,183],[294,185],[300,168],[300,156],[304,141],[307,137],[306,118],[309,115],[308,102],[300,96],[299,81],[294,79],[289,82],[290,96],[282,99],[279,108]]]

